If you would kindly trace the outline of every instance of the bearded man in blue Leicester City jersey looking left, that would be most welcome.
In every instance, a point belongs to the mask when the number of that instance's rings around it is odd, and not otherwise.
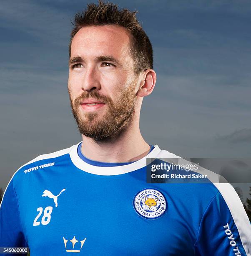
[[[156,83],[136,13],[99,1],[75,16],[68,92],[82,141],[18,169],[0,246],[31,255],[248,255],[250,225],[229,184],[146,183],[146,158],[177,158],[139,129]]]

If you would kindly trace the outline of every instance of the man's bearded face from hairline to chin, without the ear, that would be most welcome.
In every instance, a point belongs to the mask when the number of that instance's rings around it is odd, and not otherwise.
[[[131,123],[137,78],[124,28],[81,28],[71,45],[68,92],[80,133],[102,141]]]

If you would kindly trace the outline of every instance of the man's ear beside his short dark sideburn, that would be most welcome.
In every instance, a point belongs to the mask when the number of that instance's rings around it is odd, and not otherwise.
[[[139,77],[140,86],[137,92],[137,96],[145,97],[153,91],[156,83],[156,73],[153,69],[145,69]]]

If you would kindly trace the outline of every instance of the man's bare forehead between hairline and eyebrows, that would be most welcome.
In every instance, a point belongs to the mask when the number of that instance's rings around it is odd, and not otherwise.
[[[87,26],[73,37],[71,56],[113,55],[117,58],[129,53],[130,35],[116,25]]]

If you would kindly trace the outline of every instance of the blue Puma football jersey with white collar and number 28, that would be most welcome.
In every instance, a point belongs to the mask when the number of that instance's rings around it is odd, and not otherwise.
[[[147,183],[147,158],[178,156],[155,145],[138,161],[102,163],[80,144],[15,172],[0,206],[0,247],[29,247],[31,256],[251,255],[250,222],[230,184]]]

